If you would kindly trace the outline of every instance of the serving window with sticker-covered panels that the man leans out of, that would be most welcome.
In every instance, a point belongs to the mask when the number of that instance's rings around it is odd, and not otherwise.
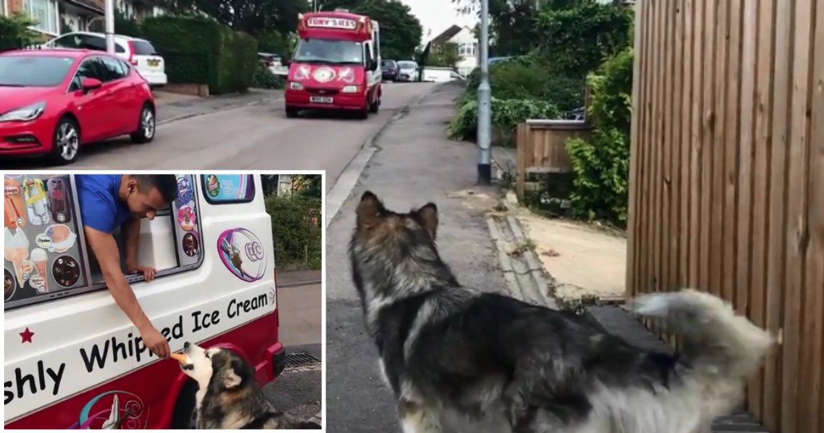
[[[178,199],[140,224],[138,264],[156,268],[156,278],[203,261],[194,176],[176,176]],[[4,175],[3,186],[3,309],[105,289],[83,236],[74,175]],[[113,234],[126,279],[143,280],[127,273],[124,238],[119,229]]]

